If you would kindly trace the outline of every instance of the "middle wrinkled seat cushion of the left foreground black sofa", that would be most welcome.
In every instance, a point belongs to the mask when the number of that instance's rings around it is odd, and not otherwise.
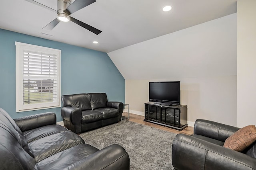
[[[71,131],[62,131],[33,141],[28,145],[34,153],[36,162],[39,162],[53,154],[61,152],[62,150],[66,150],[83,143],[84,140],[75,133]]]

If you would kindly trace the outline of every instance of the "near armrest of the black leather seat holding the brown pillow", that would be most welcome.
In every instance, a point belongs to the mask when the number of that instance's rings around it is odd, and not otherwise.
[[[255,170],[256,158],[178,134],[172,144],[172,165],[176,170]]]

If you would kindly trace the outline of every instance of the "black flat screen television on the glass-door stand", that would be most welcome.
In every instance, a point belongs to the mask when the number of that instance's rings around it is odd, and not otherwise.
[[[180,81],[149,82],[149,101],[180,104]]]

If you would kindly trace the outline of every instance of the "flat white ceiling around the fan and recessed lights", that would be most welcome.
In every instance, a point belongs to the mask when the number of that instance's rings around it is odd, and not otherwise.
[[[36,1],[57,8],[57,0]],[[44,30],[42,27],[56,18],[54,12],[25,0],[1,0],[0,28],[108,53],[236,13],[236,1],[96,0],[71,15],[102,31],[96,35],[72,22]],[[166,5],[172,10],[163,12]]]

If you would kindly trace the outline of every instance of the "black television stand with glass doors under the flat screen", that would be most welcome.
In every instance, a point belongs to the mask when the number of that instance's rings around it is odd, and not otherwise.
[[[188,127],[186,105],[162,105],[166,103],[156,103],[157,102],[145,103],[144,121],[180,131]]]

